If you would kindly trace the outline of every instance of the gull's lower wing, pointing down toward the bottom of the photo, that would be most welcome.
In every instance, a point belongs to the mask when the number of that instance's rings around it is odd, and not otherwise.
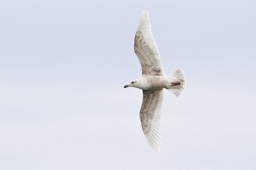
[[[161,107],[163,103],[163,89],[143,90],[143,102],[140,110],[140,120],[143,132],[153,152],[157,152],[161,145]]]

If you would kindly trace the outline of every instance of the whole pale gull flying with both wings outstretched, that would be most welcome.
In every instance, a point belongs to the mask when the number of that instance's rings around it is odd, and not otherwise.
[[[163,89],[179,97],[185,85],[184,73],[181,69],[176,69],[167,76],[164,73],[147,11],[143,11],[138,24],[134,51],[140,60],[142,76],[125,85],[124,88],[136,87],[143,90],[140,109],[141,126],[151,150],[158,152],[161,145]]]

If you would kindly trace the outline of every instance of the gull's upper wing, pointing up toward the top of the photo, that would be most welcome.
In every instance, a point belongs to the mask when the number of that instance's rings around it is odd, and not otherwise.
[[[142,75],[163,76],[164,71],[147,11],[143,11],[138,24],[134,51],[140,60]]]

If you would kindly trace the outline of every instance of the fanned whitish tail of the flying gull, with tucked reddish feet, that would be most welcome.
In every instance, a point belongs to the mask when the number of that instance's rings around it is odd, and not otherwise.
[[[179,97],[185,85],[185,76],[181,69],[176,69],[170,76],[167,76],[167,90],[172,92],[176,97]]]

